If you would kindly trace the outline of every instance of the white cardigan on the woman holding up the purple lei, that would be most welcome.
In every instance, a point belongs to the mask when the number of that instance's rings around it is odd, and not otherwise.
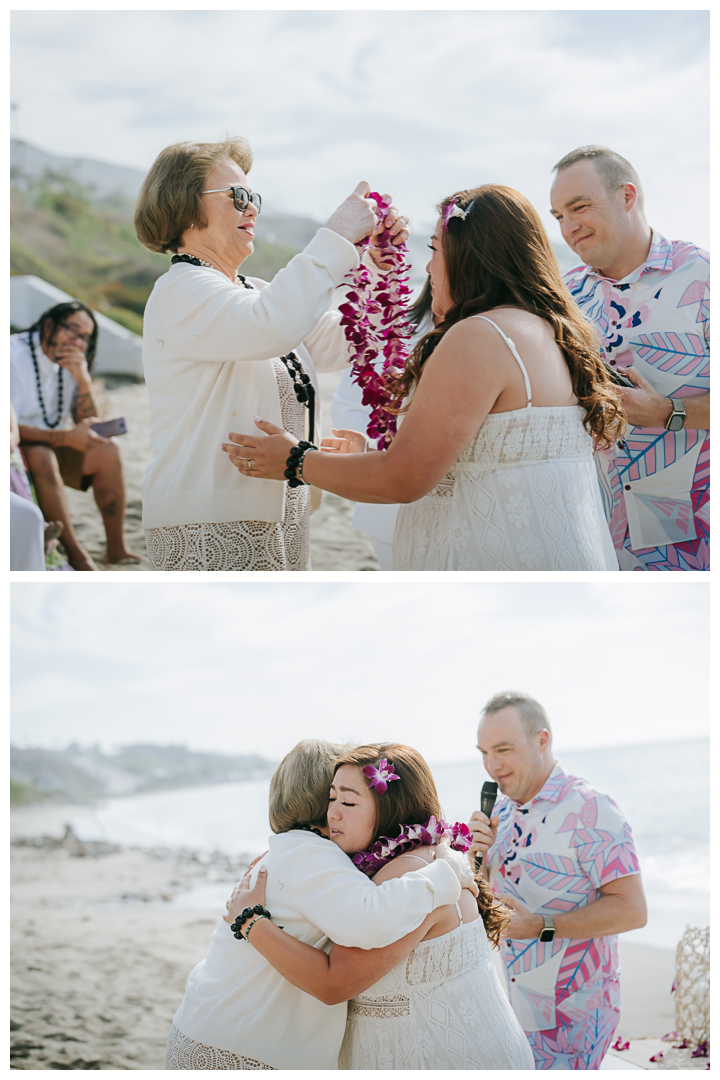
[[[348,363],[340,316],[327,309],[357,262],[353,244],[320,229],[271,283],[248,278],[253,289],[184,262],[159,278],[142,336],[152,443],[144,528],[282,522],[285,483],[242,475],[220,443],[230,431],[260,434],[254,414],[282,427],[273,357],[294,350],[315,384],[317,370]]]

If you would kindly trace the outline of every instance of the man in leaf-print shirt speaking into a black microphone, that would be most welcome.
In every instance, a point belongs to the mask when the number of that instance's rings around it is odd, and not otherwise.
[[[483,854],[514,909],[502,944],[510,1000],[536,1069],[597,1069],[620,1022],[617,937],[647,908],[630,827],[607,795],[553,757],[544,708],[495,694],[477,732],[500,792],[475,811],[471,862]]]

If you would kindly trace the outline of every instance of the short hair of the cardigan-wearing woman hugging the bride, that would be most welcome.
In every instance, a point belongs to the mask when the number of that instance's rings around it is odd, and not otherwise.
[[[335,766],[348,745],[305,739],[286,754],[270,781],[270,827],[288,833],[298,825],[327,824]]]

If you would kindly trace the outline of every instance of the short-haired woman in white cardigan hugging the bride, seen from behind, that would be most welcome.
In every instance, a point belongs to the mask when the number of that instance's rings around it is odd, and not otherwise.
[[[321,832],[327,833],[328,792],[344,748],[307,740],[279,766],[270,783],[275,835],[264,862],[273,918],[318,955],[331,942],[345,945],[336,960],[359,967],[362,988],[405,955],[404,935],[410,934],[411,948],[424,917],[459,899],[460,877],[474,882],[460,859],[438,860],[379,888],[355,869]],[[328,1008],[296,989],[220,920],[207,957],[188,978],[165,1068],[331,1069],[345,1013],[344,1000]]]

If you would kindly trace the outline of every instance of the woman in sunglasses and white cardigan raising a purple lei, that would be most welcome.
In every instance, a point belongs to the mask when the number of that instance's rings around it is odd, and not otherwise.
[[[145,310],[142,347],[153,451],[142,525],[155,570],[310,569],[310,489],[253,482],[220,443],[254,416],[317,437],[316,373],[348,363],[340,316],[327,309],[376,217],[358,184],[271,283],[245,278],[261,206],[252,161],[242,138],[167,147],[137,203],[140,242],[173,253]],[[395,242],[406,225],[393,211]]]

